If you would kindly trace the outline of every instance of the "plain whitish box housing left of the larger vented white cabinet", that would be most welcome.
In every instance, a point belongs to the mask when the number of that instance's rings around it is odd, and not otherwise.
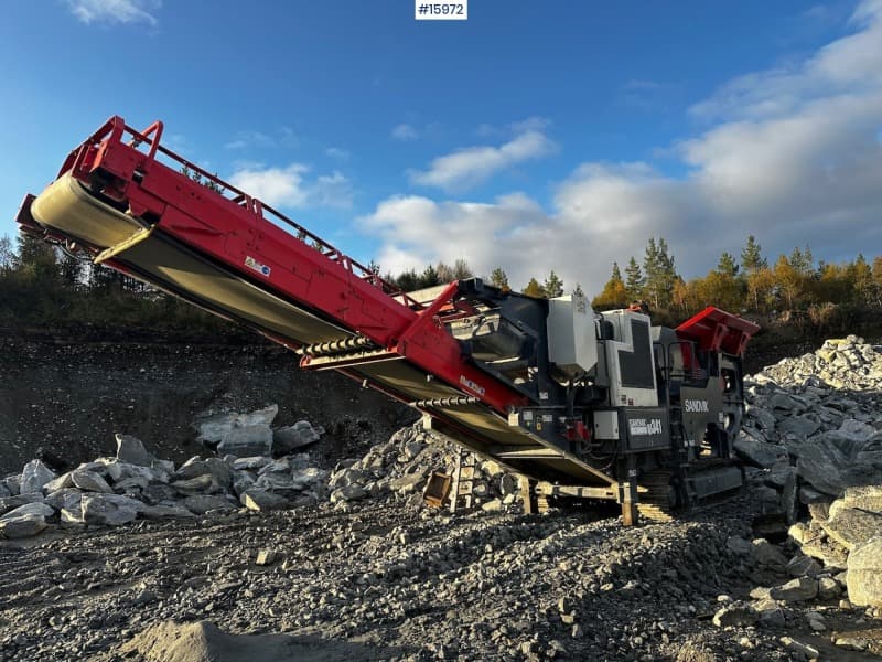
[[[573,377],[598,364],[594,311],[585,297],[568,295],[548,300],[548,356]]]

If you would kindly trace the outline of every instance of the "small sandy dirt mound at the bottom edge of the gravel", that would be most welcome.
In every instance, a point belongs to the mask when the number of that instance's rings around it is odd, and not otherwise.
[[[319,637],[228,634],[211,621],[152,626],[122,644],[119,652],[144,662],[355,662],[389,654]]]

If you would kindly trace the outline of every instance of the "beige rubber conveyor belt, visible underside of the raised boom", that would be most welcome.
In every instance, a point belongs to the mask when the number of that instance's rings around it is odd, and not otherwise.
[[[33,217],[66,236],[83,241],[99,249],[111,249],[112,260],[137,277],[162,289],[241,321],[277,338],[303,345],[355,335],[288,301],[277,293],[258,287],[241,275],[217,265],[207,257],[183,246],[162,233],[161,227],[149,229],[146,224],[103,203],[87,192],[71,174],[64,174],[34,201]],[[390,395],[406,402],[435,398],[456,398],[463,393],[438,380],[404,359],[354,365],[343,370],[355,378],[366,378]],[[481,404],[426,408],[452,430],[458,441],[501,465],[539,480],[605,484],[612,480],[578,458],[563,457],[548,447],[547,456],[529,459],[501,459],[494,449],[506,450],[523,446],[535,448],[542,444]]]

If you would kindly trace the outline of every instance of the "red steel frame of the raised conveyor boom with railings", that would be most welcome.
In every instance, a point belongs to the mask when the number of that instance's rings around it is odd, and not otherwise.
[[[386,357],[404,357],[498,414],[525,403],[520,394],[465,361],[459,342],[443,327],[441,313],[455,298],[455,282],[434,301],[417,302],[269,205],[165,149],[161,136],[161,122],[141,132],[112,117],[68,156],[60,179],[69,172],[98,199],[143,222],[144,232],[160,233],[364,337],[385,350]],[[223,188],[223,193],[194,181],[184,169]],[[26,217],[20,216],[20,222],[28,225]],[[126,270],[125,263],[115,264],[112,249],[93,249],[109,252],[105,261]],[[293,345],[313,342],[278,334],[275,339]],[[303,363],[309,361],[304,356]]]

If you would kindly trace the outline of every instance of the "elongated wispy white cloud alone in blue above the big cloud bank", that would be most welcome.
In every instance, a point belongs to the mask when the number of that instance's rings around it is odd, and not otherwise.
[[[410,181],[444,191],[464,191],[499,170],[556,151],[557,146],[545,134],[530,129],[499,147],[467,147],[438,157],[428,170],[410,172]]]

